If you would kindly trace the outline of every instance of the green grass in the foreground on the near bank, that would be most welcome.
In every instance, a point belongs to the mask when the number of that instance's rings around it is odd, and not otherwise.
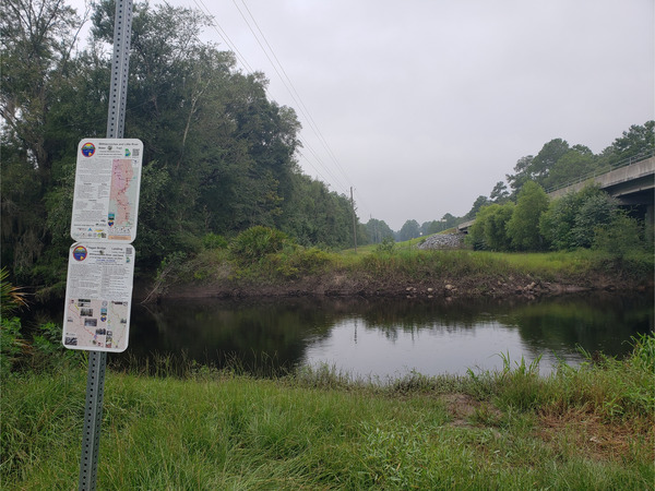
[[[264,380],[107,372],[98,489],[648,489],[655,338],[624,361],[389,385],[330,368]],[[86,370],[4,376],[4,489],[78,482]]]

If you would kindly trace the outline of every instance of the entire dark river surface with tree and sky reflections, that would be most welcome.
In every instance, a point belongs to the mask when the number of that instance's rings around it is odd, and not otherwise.
[[[434,375],[502,367],[503,354],[540,370],[587,351],[622,356],[653,330],[653,297],[560,297],[541,301],[293,299],[192,301],[135,307],[130,348],[119,363],[154,352],[249,369],[326,363],[384,380],[410,370]]]

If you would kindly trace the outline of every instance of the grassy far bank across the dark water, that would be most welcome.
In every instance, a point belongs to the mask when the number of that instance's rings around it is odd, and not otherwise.
[[[259,237],[259,236],[258,236]],[[266,236],[267,237],[267,236]],[[343,252],[277,243],[252,246],[247,261],[228,249],[209,249],[193,259],[168,261],[154,282],[150,299],[171,291],[171,285],[229,295],[234,291],[255,295],[260,291],[295,295],[330,290],[332,292],[383,292],[400,295],[407,287],[420,291],[444,292],[448,284],[458,296],[510,295],[532,283],[555,283],[597,287],[620,283],[621,288],[652,284],[652,254],[634,253],[618,260],[593,250],[573,252],[501,253],[472,250],[418,250],[421,239],[392,244],[368,246]],[[261,237],[260,237],[261,238]],[[254,247],[257,246],[257,248]],[[259,251],[259,252],[257,252]],[[269,252],[261,252],[269,251]],[[622,283],[621,283],[622,282]],[[443,295],[451,295],[449,290]]]

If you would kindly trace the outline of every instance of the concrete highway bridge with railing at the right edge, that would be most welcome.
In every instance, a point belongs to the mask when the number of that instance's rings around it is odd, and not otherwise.
[[[632,157],[614,166],[607,172],[600,175],[582,176],[574,182],[559,189],[546,190],[548,197],[563,196],[576,192],[585,185],[596,183],[602,190],[616,197],[621,205],[636,206],[641,208],[640,215],[644,221],[653,224],[655,201],[655,154]],[[468,233],[468,228],[475,220],[461,224],[457,231]]]

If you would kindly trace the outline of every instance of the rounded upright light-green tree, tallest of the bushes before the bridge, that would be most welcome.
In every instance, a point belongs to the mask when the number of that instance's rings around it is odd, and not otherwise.
[[[548,196],[534,181],[527,181],[516,200],[514,213],[508,221],[508,237],[512,247],[520,251],[537,251],[544,248],[539,233],[539,217],[548,208]]]

